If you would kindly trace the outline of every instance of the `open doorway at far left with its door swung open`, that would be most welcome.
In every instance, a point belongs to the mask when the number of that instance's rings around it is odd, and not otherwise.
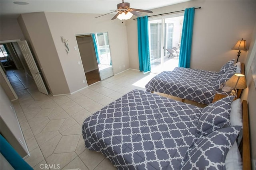
[[[0,45],[2,45],[2,47],[5,47],[1,50],[1,55],[7,55],[8,58],[11,58],[15,66],[14,67],[11,64],[11,67],[9,68],[9,66],[3,66],[1,62],[1,68],[3,68],[5,76],[8,76],[9,82],[10,78],[14,75],[19,79],[17,80],[17,82],[20,81],[21,78],[31,79],[32,81],[30,81],[30,83],[22,83],[23,87],[20,86],[18,88],[21,88],[25,91],[28,89],[31,90],[31,92],[33,91],[35,93],[39,91],[48,95],[48,90],[46,89],[44,81],[42,80],[41,72],[39,72],[38,70],[38,67],[30,51],[27,41],[1,41]],[[8,69],[8,72],[10,73],[9,75],[7,75],[6,69]],[[34,82],[36,88],[32,86],[31,82]],[[11,84],[9,88],[15,88],[14,84]]]

